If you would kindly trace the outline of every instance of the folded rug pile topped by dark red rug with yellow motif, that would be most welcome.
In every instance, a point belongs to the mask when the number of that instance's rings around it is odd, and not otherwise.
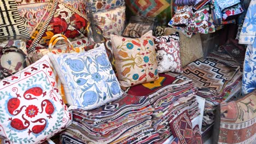
[[[127,93],[149,95],[154,107],[152,126],[160,134],[158,143],[166,141],[171,135],[169,123],[188,110],[190,119],[200,115],[195,99],[196,88],[191,80],[172,73],[159,74],[159,80],[133,86]]]

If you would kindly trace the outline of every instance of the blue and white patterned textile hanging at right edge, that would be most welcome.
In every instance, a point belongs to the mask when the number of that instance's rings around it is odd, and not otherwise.
[[[240,44],[248,44],[243,64],[242,92],[247,94],[256,88],[256,0],[250,2],[239,37]]]

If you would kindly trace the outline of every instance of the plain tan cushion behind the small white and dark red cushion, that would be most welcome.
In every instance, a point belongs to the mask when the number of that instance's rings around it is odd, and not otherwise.
[[[178,32],[178,30],[174,28],[166,28],[165,34],[170,35],[175,32]],[[179,49],[181,52],[182,67],[202,58],[203,50],[200,34],[195,34],[190,39],[188,39],[184,34],[179,34]]]

